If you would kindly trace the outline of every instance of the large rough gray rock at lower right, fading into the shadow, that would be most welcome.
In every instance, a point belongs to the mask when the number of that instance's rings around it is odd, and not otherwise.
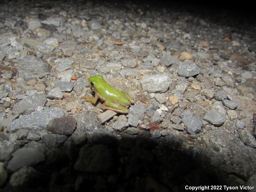
[[[203,134],[202,141],[206,156],[218,158],[220,174],[232,172],[245,180],[255,174],[255,149],[244,145],[234,134],[218,129]]]

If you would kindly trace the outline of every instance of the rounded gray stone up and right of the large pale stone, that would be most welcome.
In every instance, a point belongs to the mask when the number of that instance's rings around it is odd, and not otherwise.
[[[195,62],[182,63],[178,69],[178,75],[181,77],[192,77],[199,74],[200,68]]]

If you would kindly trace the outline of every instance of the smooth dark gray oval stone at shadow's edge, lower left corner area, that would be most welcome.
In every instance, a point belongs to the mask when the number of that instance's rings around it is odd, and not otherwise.
[[[15,172],[24,166],[34,166],[44,162],[45,156],[35,148],[20,148],[12,154],[7,170]]]

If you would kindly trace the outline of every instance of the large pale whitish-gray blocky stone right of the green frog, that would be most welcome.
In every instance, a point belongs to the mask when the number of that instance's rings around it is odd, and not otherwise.
[[[141,86],[148,92],[166,92],[170,86],[170,79],[164,74],[145,75],[141,79]]]

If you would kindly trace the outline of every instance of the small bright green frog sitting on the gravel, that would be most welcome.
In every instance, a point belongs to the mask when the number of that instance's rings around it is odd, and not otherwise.
[[[117,113],[128,113],[128,107],[131,103],[134,103],[134,100],[131,96],[124,91],[118,91],[115,88],[111,87],[102,76],[91,76],[88,79],[92,90],[95,92],[94,98],[89,96],[84,96],[81,99],[84,99],[82,103],[88,101],[95,104],[98,98],[104,101],[104,104],[101,104],[102,109],[110,109],[116,111]]]

